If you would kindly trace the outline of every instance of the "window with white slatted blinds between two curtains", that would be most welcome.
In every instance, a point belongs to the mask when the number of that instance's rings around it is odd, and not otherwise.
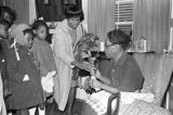
[[[131,34],[133,28],[133,3],[134,0],[115,0],[115,25],[116,28]]]

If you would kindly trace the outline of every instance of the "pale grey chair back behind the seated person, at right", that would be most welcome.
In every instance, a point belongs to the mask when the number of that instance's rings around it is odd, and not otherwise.
[[[173,55],[164,53],[134,53],[133,56],[145,77],[142,92],[154,93],[154,103],[161,106],[173,72]]]

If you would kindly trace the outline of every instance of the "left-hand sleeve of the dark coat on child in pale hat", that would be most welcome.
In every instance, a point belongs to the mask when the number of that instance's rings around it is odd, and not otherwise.
[[[8,69],[9,80],[23,82],[26,73],[21,71],[19,62],[17,61],[14,51],[10,51],[6,56],[6,69]]]

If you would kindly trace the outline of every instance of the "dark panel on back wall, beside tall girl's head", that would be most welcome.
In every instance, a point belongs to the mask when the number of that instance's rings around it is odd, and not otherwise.
[[[45,22],[59,22],[65,18],[65,4],[77,4],[81,8],[81,0],[49,0],[50,4],[44,4],[43,0],[36,0],[37,16],[42,16]]]

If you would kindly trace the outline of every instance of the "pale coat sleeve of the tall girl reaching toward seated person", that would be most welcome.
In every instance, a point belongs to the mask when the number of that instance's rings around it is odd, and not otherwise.
[[[74,66],[71,65],[71,62],[74,62],[75,59],[67,53],[64,37],[65,35],[63,36],[62,33],[54,34],[53,51],[56,58],[59,58],[59,60],[62,60],[64,63],[66,63],[68,66],[72,68]]]

